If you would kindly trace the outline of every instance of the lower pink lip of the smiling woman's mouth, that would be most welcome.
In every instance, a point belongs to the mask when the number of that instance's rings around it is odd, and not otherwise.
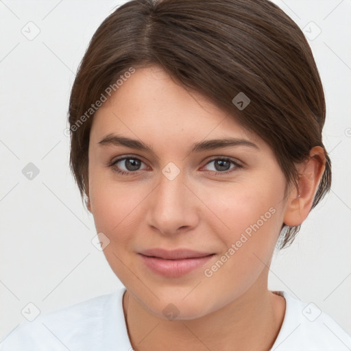
[[[167,277],[180,277],[189,273],[193,269],[201,267],[208,262],[214,254],[196,258],[182,258],[180,260],[165,260],[164,258],[145,256],[140,254],[141,258],[149,269]]]

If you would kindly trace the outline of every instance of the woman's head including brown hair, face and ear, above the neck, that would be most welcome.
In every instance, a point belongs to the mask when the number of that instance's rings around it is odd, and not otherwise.
[[[265,285],[277,241],[330,189],[324,120],[311,49],[269,1],[134,0],[108,16],[73,84],[70,165],[128,291],[193,318]],[[143,265],[154,247],[215,255],[170,278]]]

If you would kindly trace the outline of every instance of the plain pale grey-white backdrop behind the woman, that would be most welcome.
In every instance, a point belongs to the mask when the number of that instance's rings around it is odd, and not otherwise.
[[[124,2],[0,1],[0,340],[26,320],[23,310],[122,287],[91,243],[93,216],[69,171],[64,129],[88,42]],[[351,1],[274,2],[304,30],[322,77],[333,183],[293,245],[276,252],[269,289],[314,302],[351,333]]]

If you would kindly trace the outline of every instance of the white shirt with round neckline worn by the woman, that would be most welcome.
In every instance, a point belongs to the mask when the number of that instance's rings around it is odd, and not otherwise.
[[[125,288],[39,315],[3,339],[1,351],[132,351],[123,315]],[[277,293],[277,292],[276,292]],[[271,351],[350,351],[351,336],[313,303],[286,300],[285,317]]]

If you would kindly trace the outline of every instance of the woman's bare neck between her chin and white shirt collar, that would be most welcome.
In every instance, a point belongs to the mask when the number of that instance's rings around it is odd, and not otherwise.
[[[285,299],[252,286],[223,308],[191,320],[147,311],[128,291],[123,310],[135,351],[270,350],[285,316]]]

